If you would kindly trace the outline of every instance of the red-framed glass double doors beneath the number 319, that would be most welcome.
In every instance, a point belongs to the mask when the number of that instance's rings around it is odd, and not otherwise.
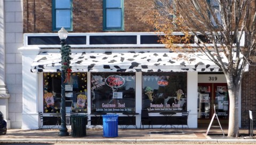
[[[221,124],[228,123],[227,83],[198,83],[198,124],[209,124],[215,112]],[[217,123],[216,120],[213,122]]]

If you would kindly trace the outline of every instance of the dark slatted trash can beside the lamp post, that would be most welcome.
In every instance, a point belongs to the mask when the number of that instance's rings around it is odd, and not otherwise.
[[[71,115],[72,137],[86,137],[87,115]]]

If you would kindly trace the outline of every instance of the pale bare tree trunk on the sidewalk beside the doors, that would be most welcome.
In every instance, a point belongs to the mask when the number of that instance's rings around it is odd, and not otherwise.
[[[229,126],[228,126],[228,137],[239,136],[239,114],[238,114],[238,92],[239,85],[235,85],[232,81],[228,82],[229,92]]]

